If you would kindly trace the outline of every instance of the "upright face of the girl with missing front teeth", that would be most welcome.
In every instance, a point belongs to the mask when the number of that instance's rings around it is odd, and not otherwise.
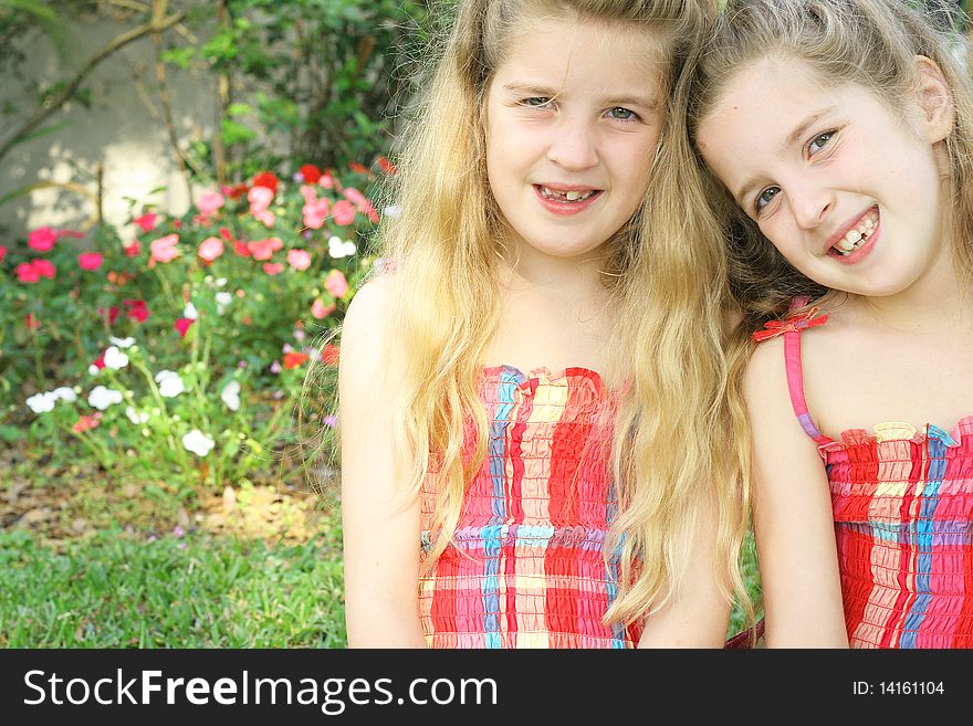
[[[485,109],[505,242],[577,257],[635,213],[662,123],[659,48],[645,29],[551,18],[512,39]]]

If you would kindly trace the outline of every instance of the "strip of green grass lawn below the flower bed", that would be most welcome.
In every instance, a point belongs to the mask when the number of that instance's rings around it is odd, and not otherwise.
[[[339,549],[0,532],[0,646],[344,648]]]

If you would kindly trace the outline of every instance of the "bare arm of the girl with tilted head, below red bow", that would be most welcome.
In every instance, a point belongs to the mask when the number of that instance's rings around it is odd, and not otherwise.
[[[847,648],[828,481],[791,407],[783,340],[744,379],[753,431],[753,523],[767,648]]]

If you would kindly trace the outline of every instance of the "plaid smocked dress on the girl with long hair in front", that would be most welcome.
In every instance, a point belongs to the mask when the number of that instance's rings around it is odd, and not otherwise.
[[[419,582],[431,648],[631,648],[640,629],[600,622],[617,593],[605,536],[608,397],[594,371],[483,370],[488,449],[453,544]],[[468,436],[468,455],[472,438]],[[421,492],[423,554],[438,474]]]

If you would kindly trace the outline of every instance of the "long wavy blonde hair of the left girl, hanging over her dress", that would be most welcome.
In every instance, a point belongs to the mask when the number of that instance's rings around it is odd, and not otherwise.
[[[715,0],[465,0],[456,8],[428,91],[407,126],[391,190],[399,208],[379,231],[389,332],[398,346],[396,441],[418,491],[441,471],[435,540],[425,567],[449,545],[468,482],[483,462],[486,421],[477,397],[482,355],[496,332],[496,264],[503,220],[486,181],[483,111],[489,84],[525,15],[550,13],[645,28],[670,59],[662,91],[670,108],[650,189],[608,242],[605,271],[620,311],[611,359],[630,385],[619,404],[613,469],[621,550],[619,597],[606,615],[630,622],[661,608],[689,558],[701,503],[712,504],[724,553],[718,574],[742,589],[736,553],[745,527],[732,415],[723,392],[725,261],[715,219],[672,94],[686,59],[715,14]],[[702,211],[701,211],[702,210]],[[478,445],[463,455],[464,421]],[[435,452],[431,454],[430,452]],[[637,566],[632,566],[637,562]]]

